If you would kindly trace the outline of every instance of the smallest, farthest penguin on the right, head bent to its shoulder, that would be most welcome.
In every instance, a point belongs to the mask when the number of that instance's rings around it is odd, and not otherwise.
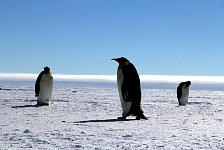
[[[177,99],[180,106],[185,106],[188,102],[189,87],[191,81],[181,82],[177,87]]]

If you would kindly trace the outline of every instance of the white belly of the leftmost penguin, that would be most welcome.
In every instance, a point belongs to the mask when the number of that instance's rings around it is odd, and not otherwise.
[[[40,92],[37,100],[40,103],[49,104],[53,93],[53,77],[51,74],[44,74],[40,81]]]

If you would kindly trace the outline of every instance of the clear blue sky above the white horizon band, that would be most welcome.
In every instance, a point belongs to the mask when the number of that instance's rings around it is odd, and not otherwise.
[[[1,0],[0,72],[224,75],[223,0]]]

